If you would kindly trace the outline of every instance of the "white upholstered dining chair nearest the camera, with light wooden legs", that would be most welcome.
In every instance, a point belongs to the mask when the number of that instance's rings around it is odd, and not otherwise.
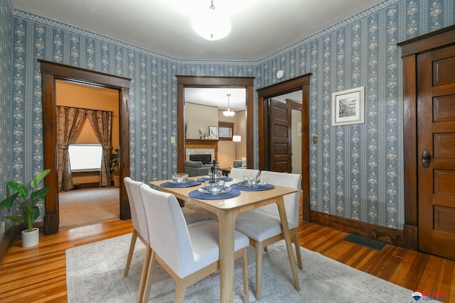
[[[218,223],[212,220],[185,223],[173,194],[141,186],[152,248],[144,302],[149,299],[156,262],[176,280],[174,302],[183,302],[186,287],[202,280],[219,268]],[[248,297],[247,246],[249,240],[235,232],[235,258],[242,256],[244,300]],[[201,298],[202,299],[202,298]]]

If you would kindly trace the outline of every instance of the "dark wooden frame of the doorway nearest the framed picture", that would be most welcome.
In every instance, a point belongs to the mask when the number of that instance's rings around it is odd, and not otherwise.
[[[269,87],[257,90],[259,106],[259,170],[270,170],[271,158],[269,150],[269,99],[301,91],[301,189],[303,195],[302,212],[305,221],[310,219],[309,204],[309,77],[301,75]]]

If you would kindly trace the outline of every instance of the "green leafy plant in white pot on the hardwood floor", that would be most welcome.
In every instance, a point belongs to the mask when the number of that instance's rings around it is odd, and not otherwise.
[[[49,172],[50,169],[43,170],[42,172],[38,172],[35,177],[33,177],[30,182],[30,186],[33,190],[30,194],[27,188],[21,183],[14,181],[6,183],[12,194],[0,202],[0,204],[7,209],[11,209],[15,203],[18,204],[21,214],[16,216],[5,216],[5,219],[9,219],[26,226],[26,229],[21,233],[22,247],[36,246],[39,242],[39,229],[33,227],[33,224],[40,215],[40,209],[37,204],[48,194],[50,187],[38,189],[38,185]]]

